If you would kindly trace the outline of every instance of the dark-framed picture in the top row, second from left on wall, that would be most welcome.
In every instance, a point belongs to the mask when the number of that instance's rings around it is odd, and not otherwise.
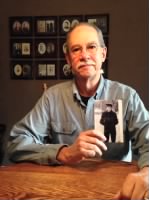
[[[57,17],[56,16],[42,16],[35,17],[34,27],[35,35],[50,36],[57,35]]]

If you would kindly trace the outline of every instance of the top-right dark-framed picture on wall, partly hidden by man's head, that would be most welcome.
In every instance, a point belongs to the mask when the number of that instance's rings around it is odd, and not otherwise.
[[[100,28],[103,34],[109,33],[109,15],[101,14],[101,15],[86,15],[85,21],[95,24],[98,28]]]

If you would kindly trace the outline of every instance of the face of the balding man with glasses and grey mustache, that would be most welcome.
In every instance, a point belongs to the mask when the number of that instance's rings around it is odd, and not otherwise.
[[[100,77],[107,50],[101,47],[94,28],[86,25],[75,28],[70,34],[68,49],[66,59],[75,77],[85,79]]]

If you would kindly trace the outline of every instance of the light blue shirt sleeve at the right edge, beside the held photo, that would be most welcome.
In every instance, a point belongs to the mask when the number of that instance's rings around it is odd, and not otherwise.
[[[138,155],[138,166],[149,166],[149,112],[137,93],[129,104],[128,128],[132,150]]]

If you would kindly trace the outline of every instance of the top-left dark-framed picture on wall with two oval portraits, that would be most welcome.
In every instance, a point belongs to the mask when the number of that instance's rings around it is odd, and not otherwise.
[[[33,18],[32,17],[10,17],[9,27],[11,36],[32,36]]]

